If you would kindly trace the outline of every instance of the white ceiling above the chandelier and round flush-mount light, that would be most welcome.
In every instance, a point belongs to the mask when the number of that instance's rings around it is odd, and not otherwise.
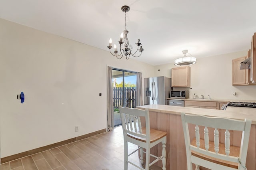
[[[124,30],[124,5],[129,42],[144,48],[134,59],[151,65],[184,49],[197,58],[247,50],[256,32],[255,0],[0,0],[0,18],[108,51]]]

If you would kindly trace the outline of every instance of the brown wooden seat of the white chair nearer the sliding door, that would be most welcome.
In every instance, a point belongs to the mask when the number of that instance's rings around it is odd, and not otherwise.
[[[142,134],[146,134],[146,128],[142,127]],[[156,140],[159,140],[160,138],[163,138],[164,136],[166,136],[167,132],[163,132],[160,130],[156,130],[153,128],[150,128],[150,143],[155,142]],[[133,136],[128,134],[127,136],[134,138],[136,140],[140,140],[142,142],[146,142],[145,138],[140,138],[138,136]]]

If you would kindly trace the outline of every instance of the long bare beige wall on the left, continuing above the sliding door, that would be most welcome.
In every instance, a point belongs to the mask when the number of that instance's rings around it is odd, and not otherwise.
[[[106,128],[108,65],[154,75],[151,65],[83,43],[2,19],[0,26],[0,157]]]

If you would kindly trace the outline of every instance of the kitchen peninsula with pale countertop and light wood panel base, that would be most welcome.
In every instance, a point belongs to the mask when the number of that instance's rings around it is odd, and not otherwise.
[[[242,113],[240,110],[224,111],[168,105],[145,105],[136,108],[149,110],[151,128],[167,132],[166,167],[168,170],[185,170],[187,168],[184,134],[180,118],[181,112],[211,117],[225,117],[238,120],[251,119],[252,127],[250,132],[246,166],[248,170],[256,169],[256,113],[254,113],[253,110],[251,113]],[[203,132],[203,130],[200,131]],[[234,146],[240,146],[240,140],[237,140],[236,136],[241,135],[241,133],[230,132],[230,134],[233,134],[230,136],[230,144]],[[203,134],[200,133],[200,137],[201,136],[203,136]],[[224,143],[224,139],[224,131],[220,131],[220,142]],[[157,148],[155,148],[155,150],[151,150],[151,152],[159,152],[160,154],[161,146],[159,145],[156,147]],[[158,162],[157,165],[161,166],[161,162]]]

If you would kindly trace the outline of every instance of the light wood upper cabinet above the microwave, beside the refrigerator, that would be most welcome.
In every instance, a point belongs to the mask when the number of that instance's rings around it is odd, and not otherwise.
[[[190,87],[190,67],[172,68],[172,87]]]

